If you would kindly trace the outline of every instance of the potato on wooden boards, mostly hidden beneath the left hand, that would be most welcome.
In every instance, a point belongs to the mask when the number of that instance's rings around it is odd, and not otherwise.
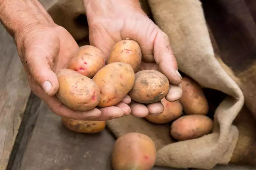
[[[62,118],[62,123],[67,129],[78,133],[98,133],[106,127],[106,121],[74,120]]]

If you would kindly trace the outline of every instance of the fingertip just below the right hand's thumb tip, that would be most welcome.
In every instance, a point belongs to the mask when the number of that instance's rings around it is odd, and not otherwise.
[[[170,84],[170,88],[167,95],[165,96],[165,99],[170,102],[173,102],[173,101],[179,100],[181,97],[182,97],[181,84],[179,84],[178,86]]]

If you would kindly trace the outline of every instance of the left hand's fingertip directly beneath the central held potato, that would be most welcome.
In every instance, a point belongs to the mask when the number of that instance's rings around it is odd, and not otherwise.
[[[124,116],[124,110],[116,106],[100,108],[100,111],[102,115],[98,119],[101,119],[101,120],[111,120],[111,119],[120,118]]]

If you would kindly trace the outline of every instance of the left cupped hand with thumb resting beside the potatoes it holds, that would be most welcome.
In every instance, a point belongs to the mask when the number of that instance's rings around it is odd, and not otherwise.
[[[66,107],[55,96],[58,79],[55,72],[65,68],[79,48],[63,27],[34,26],[22,32],[16,40],[18,53],[27,73],[31,90],[45,101],[57,115],[77,120],[110,120],[130,114],[129,96],[116,106],[76,111]]]

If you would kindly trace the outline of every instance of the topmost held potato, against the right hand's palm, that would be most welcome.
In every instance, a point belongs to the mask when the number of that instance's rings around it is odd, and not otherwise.
[[[113,62],[130,64],[134,72],[136,72],[141,62],[141,49],[139,44],[128,38],[117,42],[110,53],[108,64]]]

